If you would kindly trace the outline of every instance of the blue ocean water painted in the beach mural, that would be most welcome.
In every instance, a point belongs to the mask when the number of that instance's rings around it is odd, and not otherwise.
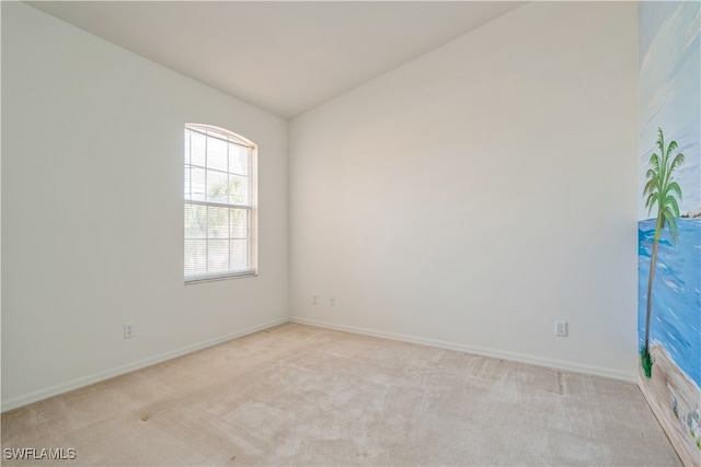
[[[679,369],[701,387],[701,219],[678,219],[679,238],[673,246],[663,230],[653,283],[651,341],[662,343]],[[647,282],[655,237],[655,219],[637,223],[637,330],[645,339]],[[655,370],[653,369],[653,372]]]

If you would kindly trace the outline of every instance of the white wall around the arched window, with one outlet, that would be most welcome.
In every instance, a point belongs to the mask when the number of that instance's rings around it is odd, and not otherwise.
[[[185,122],[258,144],[257,278],[183,283]],[[3,2],[2,164],[3,410],[287,320],[281,118]]]

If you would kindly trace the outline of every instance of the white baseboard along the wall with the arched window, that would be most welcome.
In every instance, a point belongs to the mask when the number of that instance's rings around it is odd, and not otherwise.
[[[101,381],[110,380],[112,377],[119,376],[125,373],[129,373],[136,370],[141,370],[146,366],[154,365],[157,363],[161,363],[166,360],[175,359],[177,357],[182,357],[187,353],[196,352],[197,350],[206,349],[207,347],[212,347],[218,343],[226,342],[228,340],[235,339],[238,337],[248,336],[250,334],[257,332],[257,331],[271,328],[273,326],[281,325],[288,322],[289,319],[287,319],[286,317],[280,319],[274,319],[272,322],[267,322],[262,325],[253,326],[253,327],[242,329],[235,332],[231,332],[225,336],[216,337],[214,339],[209,339],[192,346],[183,347],[170,352],[161,353],[159,355],[150,357],[133,363],[127,363],[126,365],[116,366],[116,367],[101,371],[88,376],[71,380],[66,383],[47,387],[45,389],[34,390],[28,394],[11,397],[10,399],[2,400],[2,412],[16,409],[22,406],[26,406],[27,404],[36,402],[38,400],[43,400],[48,397],[68,393],[69,390],[79,389],[81,387],[89,386],[91,384],[100,383]]]

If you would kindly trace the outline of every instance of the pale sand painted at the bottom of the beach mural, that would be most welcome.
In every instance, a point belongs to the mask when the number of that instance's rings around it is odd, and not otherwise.
[[[651,346],[651,354],[652,377],[645,377],[641,369],[643,394],[683,464],[701,466],[701,389],[679,370],[663,346]]]

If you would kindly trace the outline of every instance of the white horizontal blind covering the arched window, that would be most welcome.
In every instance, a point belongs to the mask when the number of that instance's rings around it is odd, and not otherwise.
[[[185,126],[185,281],[255,273],[254,145]]]

